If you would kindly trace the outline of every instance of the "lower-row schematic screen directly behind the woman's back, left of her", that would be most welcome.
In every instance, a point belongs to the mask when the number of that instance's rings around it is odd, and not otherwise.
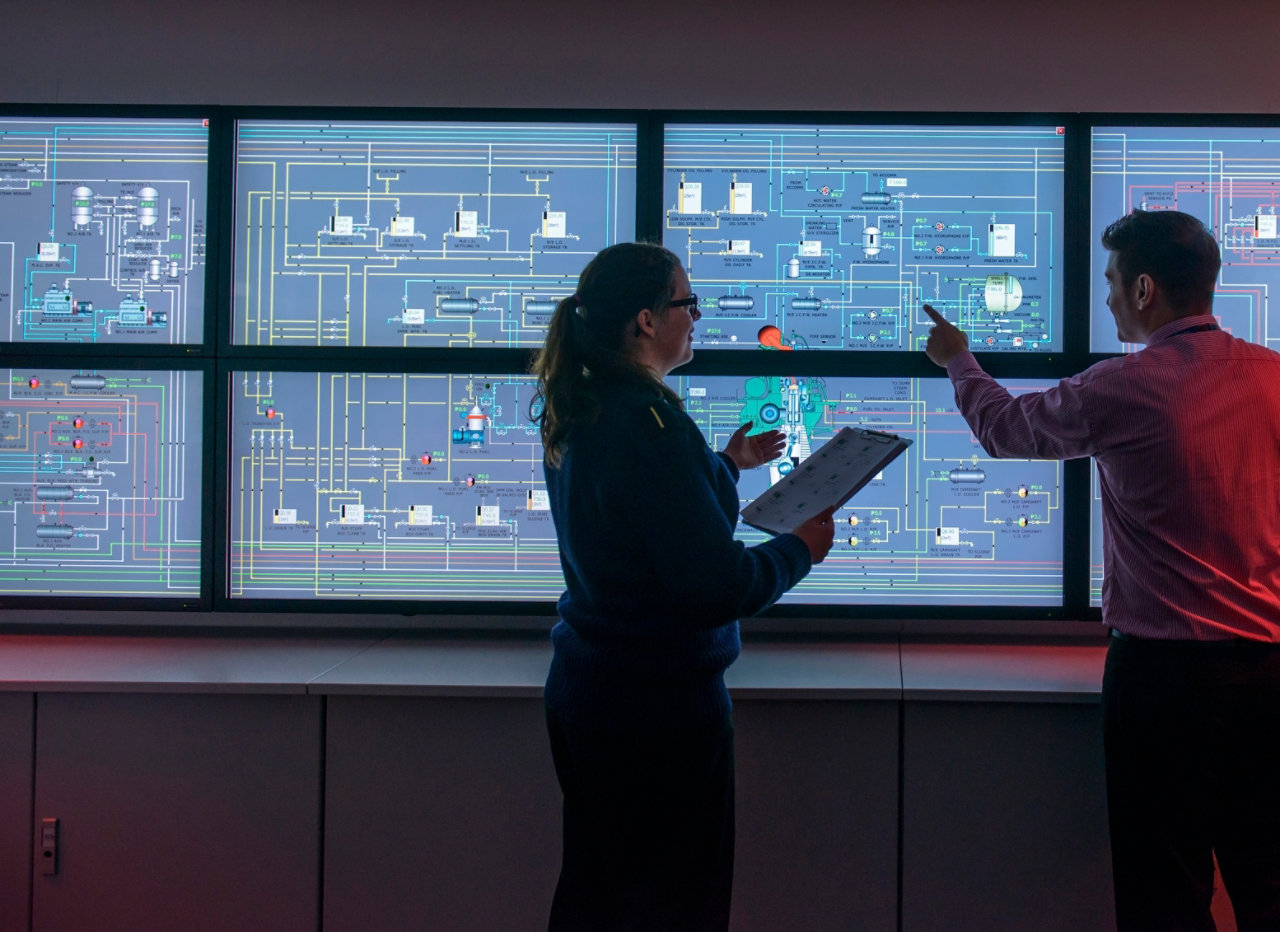
[[[230,595],[552,599],[530,376],[232,376]]]

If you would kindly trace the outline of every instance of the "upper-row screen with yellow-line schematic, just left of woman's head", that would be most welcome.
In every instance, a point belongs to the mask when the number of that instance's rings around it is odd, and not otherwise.
[[[232,342],[534,347],[636,237],[636,124],[239,120]]]

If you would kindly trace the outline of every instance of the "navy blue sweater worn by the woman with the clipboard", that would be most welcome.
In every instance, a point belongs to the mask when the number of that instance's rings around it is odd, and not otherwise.
[[[799,582],[809,548],[735,540],[732,461],[655,389],[599,390],[600,416],[545,471],[567,585],[547,704],[589,728],[701,727],[730,712],[737,620]]]

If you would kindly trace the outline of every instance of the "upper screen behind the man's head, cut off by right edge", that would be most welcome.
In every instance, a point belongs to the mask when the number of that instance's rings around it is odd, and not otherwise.
[[[1280,349],[1280,125],[1094,125],[1091,291],[1094,352],[1134,347],[1116,337],[1102,277],[1107,224],[1134,209],[1198,216],[1222,252],[1213,314],[1236,337]]]

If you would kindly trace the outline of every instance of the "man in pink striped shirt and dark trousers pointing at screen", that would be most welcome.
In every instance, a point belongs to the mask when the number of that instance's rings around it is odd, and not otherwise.
[[[925,305],[925,352],[989,454],[1097,462],[1121,932],[1213,929],[1215,851],[1242,932],[1280,929],[1280,355],[1219,328],[1196,218],[1135,210],[1102,245],[1144,349],[1014,398]]]

